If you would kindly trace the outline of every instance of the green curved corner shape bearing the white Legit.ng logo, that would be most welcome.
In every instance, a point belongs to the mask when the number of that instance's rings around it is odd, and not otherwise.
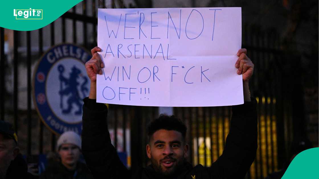
[[[0,27],[18,31],[40,29],[69,11],[82,0],[1,1]]]

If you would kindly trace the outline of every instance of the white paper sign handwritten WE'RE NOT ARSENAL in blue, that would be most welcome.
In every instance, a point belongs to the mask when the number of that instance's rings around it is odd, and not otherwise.
[[[97,102],[243,104],[241,8],[99,9]]]

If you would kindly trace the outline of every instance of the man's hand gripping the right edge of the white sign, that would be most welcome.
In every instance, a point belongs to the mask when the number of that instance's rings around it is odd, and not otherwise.
[[[239,49],[237,52],[239,58],[235,64],[235,67],[238,68],[237,74],[242,74],[243,82],[248,82],[254,72],[254,64],[246,54],[247,50],[245,48]]]

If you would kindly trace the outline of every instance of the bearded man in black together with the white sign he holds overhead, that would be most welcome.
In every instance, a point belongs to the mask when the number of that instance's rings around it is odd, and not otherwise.
[[[91,89],[82,132],[83,154],[96,178],[131,178],[111,144],[102,103],[237,105],[225,150],[211,167],[186,162],[186,126],[161,115],[147,128],[152,165],[133,178],[245,176],[256,155],[257,115],[248,85],[254,65],[241,49],[241,8],[99,9],[97,40],[85,65]]]

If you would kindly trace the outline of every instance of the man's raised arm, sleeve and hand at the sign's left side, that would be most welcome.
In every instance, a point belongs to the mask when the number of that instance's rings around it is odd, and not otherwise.
[[[100,51],[95,47],[91,52]],[[82,153],[95,178],[127,178],[128,170],[111,144],[106,105],[96,103],[96,74],[104,67],[99,54],[93,53],[85,68],[91,80],[90,94],[83,105]]]

